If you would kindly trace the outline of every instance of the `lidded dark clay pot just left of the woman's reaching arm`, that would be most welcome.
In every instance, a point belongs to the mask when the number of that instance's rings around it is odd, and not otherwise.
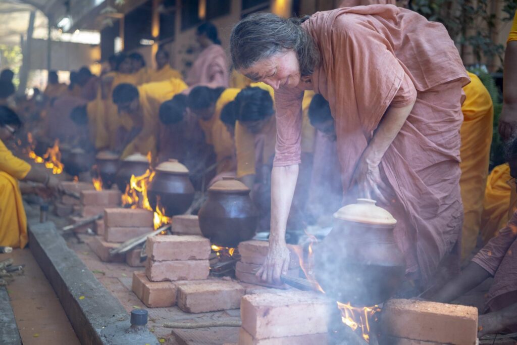
[[[250,190],[234,178],[225,178],[208,188],[208,199],[198,216],[203,235],[222,247],[235,248],[251,239],[258,222]]]

